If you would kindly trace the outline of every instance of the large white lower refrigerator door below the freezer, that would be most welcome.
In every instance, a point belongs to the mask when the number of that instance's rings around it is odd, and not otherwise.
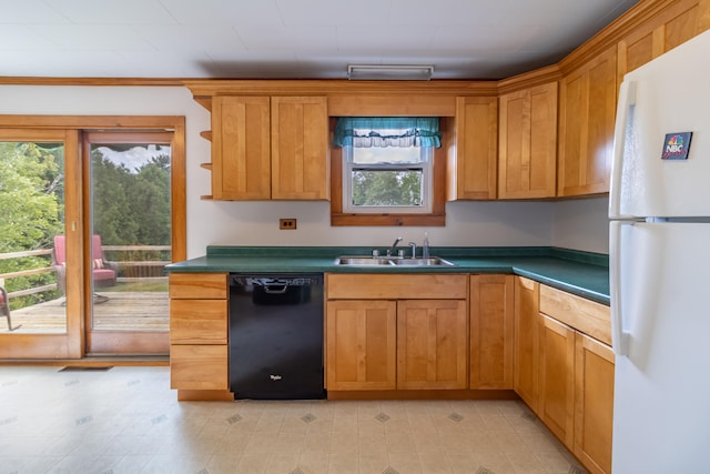
[[[612,471],[707,472],[710,224],[627,222],[619,234],[628,356],[616,357]]]

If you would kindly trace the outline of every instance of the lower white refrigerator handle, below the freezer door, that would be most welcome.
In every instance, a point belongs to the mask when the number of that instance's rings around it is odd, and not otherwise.
[[[609,296],[611,299],[611,349],[616,355],[629,355],[629,333],[623,331],[623,305],[621,304],[621,226],[632,222],[611,221],[609,223]]]

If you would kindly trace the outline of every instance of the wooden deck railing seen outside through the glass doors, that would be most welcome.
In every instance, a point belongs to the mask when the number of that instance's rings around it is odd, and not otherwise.
[[[109,253],[110,255],[128,255],[132,256],[132,252],[146,253],[146,252],[168,252],[171,250],[170,245],[102,245],[104,254]],[[22,259],[27,256],[47,256],[47,262],[50,262],[50,256],[52,254],[51,249],[40,249],[40,250],[27,250],[21,252],[8,252],[0,253],[0,261],[10,260],[10,259]],[[133,253],[134,255],[134,253]],[[170,263],[170,260],[123,260],[123,259],[106,259],[112,262],[115,262],[119,265],[119,281],[131,280],[134,278],[136,269],[153,269],[152,272],[142,272],[144,273],[144,278],[162,278],[162,272],[160,269]],[[42,260],[44,261],[44,260]],[[43,273],[54,273],[54,268],[50,264],[49,266],[37,266],[32,269],[23,269],[17,272],[9,273],[0,273],[0,285],[4,286],[7,290],[7,285],[4,284],[8,280],[17,279],[21,276],[33,276],[41,275]],[[122,273],[128,273],[128,276],[121,276]],[[161,273],[160,275],[155,275],[155,273]],[[34,293],[41,293],[44,291],[57,290],[57,283],[44,284],[32,286],[23,290],[17,290],[8,293],[8,299],[13,299],[18,296],[27,296]]]

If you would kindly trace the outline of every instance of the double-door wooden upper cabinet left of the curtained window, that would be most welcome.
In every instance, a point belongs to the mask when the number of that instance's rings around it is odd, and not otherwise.
[[[212,198],[328,198],[323,97],[212,98]]]

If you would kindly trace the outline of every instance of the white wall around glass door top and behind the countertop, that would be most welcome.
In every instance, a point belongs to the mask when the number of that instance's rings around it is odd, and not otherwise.
[[[454,202],[445,228],[337,228],[329,225],[326,202],[212,202],[209,112],[187,89],[162,87],[0,85],[1,114],[185,115],[187,155],[187,255],[209,244],[377,245],[395,236],[432,245],[558,245],[606,253],[598,200],[555,202]],[[604,210],[606,219],[606,208]],[[296,218],[297,230],[280,231],[280,218]]]

